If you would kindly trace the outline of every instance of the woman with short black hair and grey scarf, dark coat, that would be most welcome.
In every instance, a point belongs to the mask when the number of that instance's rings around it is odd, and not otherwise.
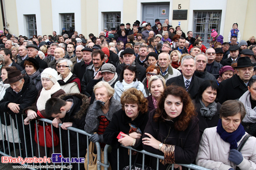
[[[206,128],[215,127],[220,119],[221,104],[217,102],[216,96],[219,87],[216,81],[205,80],[199,87],[194,103],[199,119],[200,137]]]

